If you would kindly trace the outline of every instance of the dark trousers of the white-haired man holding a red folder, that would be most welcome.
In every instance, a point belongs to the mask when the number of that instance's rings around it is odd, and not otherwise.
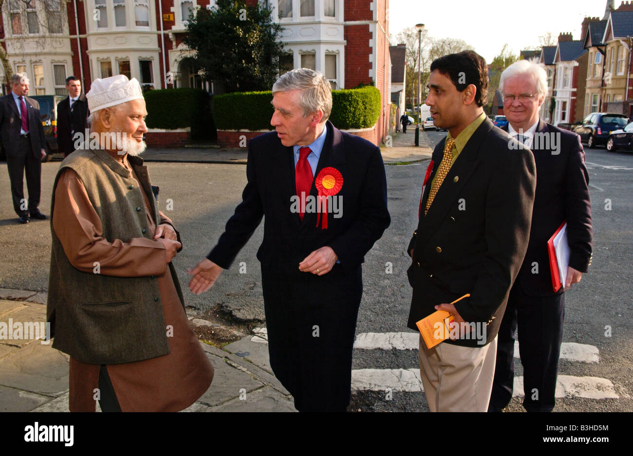
[[[523,365],[523,407],[528,412],[551,412],[563,340],[565,293],[528,296],[520,284],[510,290],[497,341],[497,360],[488,411],[510,403],[514,383],[514,339]]]

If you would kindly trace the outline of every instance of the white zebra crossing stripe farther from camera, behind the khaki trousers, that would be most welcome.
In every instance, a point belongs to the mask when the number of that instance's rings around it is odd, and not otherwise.
[[[418,333],[360,333],[354,341],[359,350],[417,350],[420,346]],[[514,357],[519,357],[518,342],[515,341]],[[595,363],[599,362],[599,350],[585,343],[563,342],[560,347],[560,359]]]

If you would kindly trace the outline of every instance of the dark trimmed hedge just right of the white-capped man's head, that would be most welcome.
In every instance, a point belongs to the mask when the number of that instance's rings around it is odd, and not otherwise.
[[[203,89],[156,89],[144,94],[147,128],[191,127],[192,139],[210,139],[215,135],[211,116],[211,96]]]

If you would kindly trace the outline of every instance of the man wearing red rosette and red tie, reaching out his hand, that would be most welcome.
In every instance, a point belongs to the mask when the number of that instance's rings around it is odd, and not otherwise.
[[[257,257],[270,365],[298,410],[344,411],[361,264],[390,223],[384,164],[378,147],[327,121],[322,74],[285,73],[272,104],[276,132],[249,142],[242,202],[189,287],[208,290],[265,216]]]

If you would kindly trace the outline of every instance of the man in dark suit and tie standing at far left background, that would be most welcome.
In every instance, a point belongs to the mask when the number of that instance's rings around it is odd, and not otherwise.
[[[44,127],[39,103],[28,94],[28,78],[16,74],[11,78],[12,91],[0,98],[0,137],[6,154],[6,167],[11,181],[13,209],[20,223],[32,218],[44,220],[39,206],[42,158],[46,157]],[[24,198],[23,176],[27,174],[28,204]]]

